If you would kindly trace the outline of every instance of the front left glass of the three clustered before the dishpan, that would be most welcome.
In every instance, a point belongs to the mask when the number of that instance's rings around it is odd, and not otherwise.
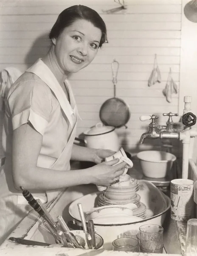
[[[112,248],[114,251],[138,252],[139,243],[136,239],[123,237],[115,239]]]

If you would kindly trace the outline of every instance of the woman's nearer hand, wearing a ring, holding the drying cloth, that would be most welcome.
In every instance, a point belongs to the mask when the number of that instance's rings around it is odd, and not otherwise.
[[[124,173],[125,162],[118,163],[119,159],[111,160],[108,162],[102,162],[89,168],[91,177],[91,183],[99,186],[110,186],[111,183],[119,180],[119,177]],[[118,163],[117,165],[115,165]],[[115,165],[115,166],[113,166]]]

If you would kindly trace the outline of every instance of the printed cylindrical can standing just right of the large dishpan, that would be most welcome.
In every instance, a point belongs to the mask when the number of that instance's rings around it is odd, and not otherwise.
[[[194,181],[188,179],[175,179],[170,183],[171,218],[175,221],[186,222],[193,216]]]

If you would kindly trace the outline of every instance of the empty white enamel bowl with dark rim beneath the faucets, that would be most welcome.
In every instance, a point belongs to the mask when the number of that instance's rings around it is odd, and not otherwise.
[[[141,151],[137,157],[143,174],[150,178],[166,177],[172,168],[172,163],[176,160],[174,154],[155,150]]]

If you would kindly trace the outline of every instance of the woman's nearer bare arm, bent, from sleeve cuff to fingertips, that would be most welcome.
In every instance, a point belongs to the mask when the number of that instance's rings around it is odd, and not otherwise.
[[[56,171],[37,166],[42,135],[31,125],[24,124],[13,131],[12,169],[14,185],[31,190],[61,189],[79,184],[95,183],[109,186],[115,177],[124,172],[124,165],[114,160],[82,170]]]

